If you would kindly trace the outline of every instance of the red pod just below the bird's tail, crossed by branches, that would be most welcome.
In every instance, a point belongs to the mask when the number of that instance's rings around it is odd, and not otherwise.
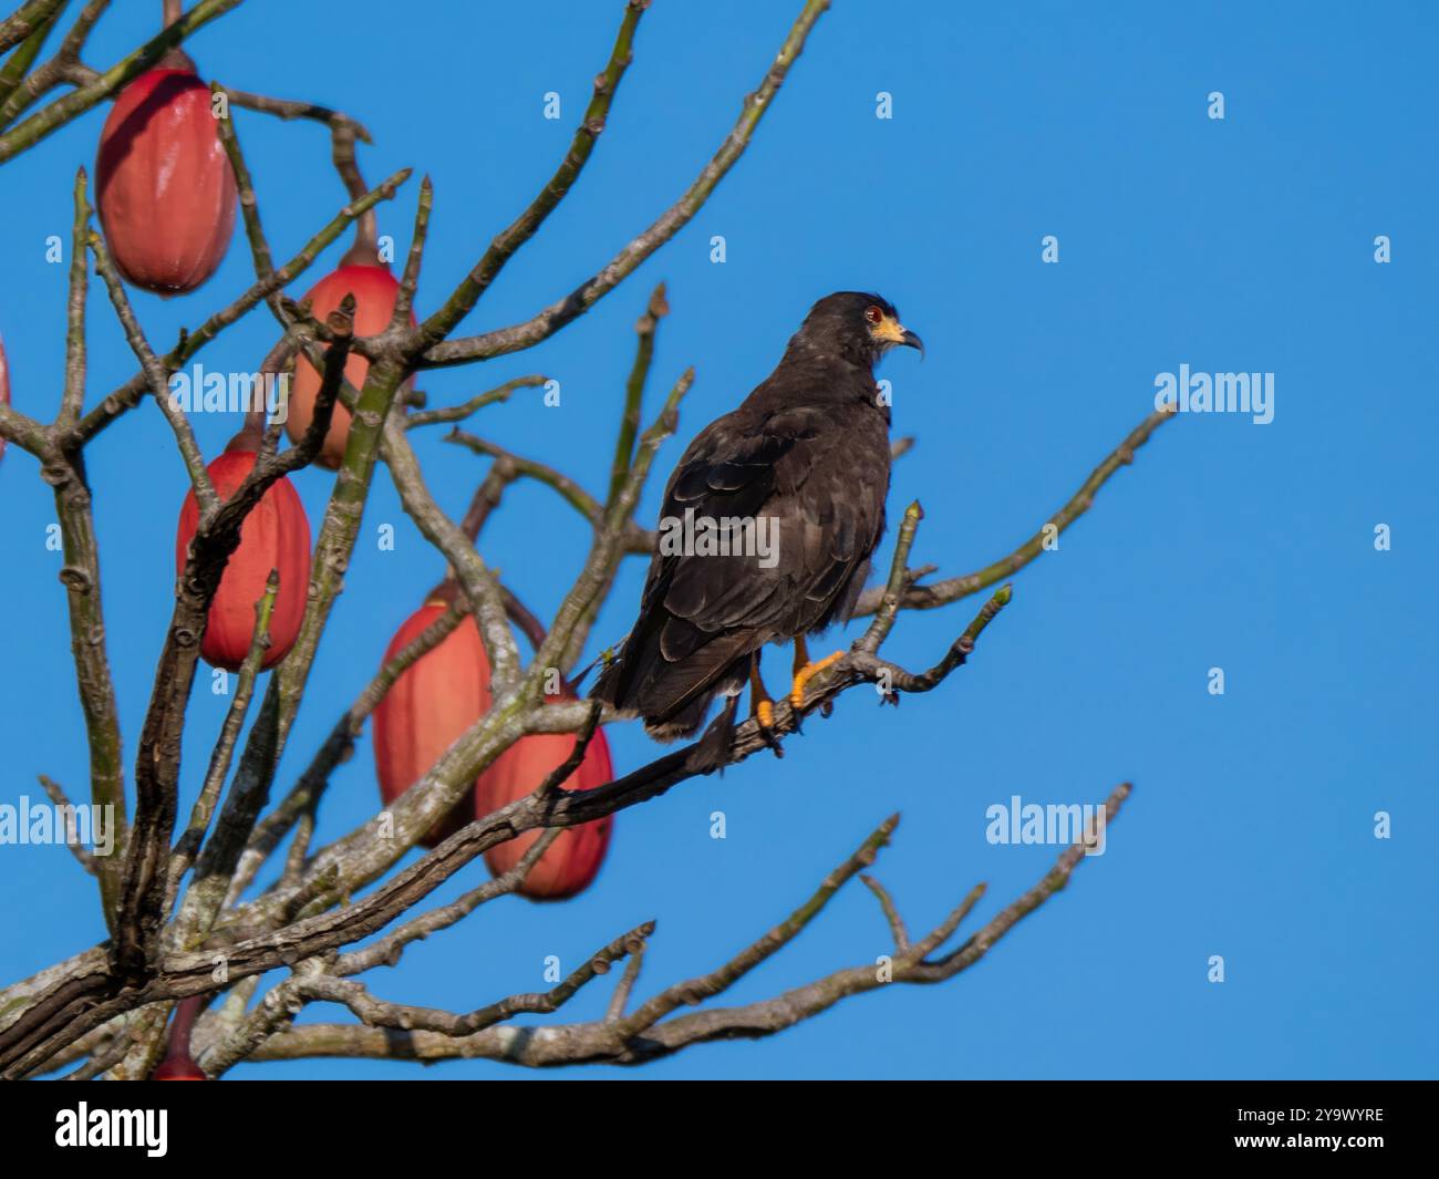
[[[566,691],[563,698],[574,700],[574,694]],[[475,789],[475,816],[484,818],[532,793],[535,786],[573,751],[573,733],[532,733],[521,737],[479,776]],[[603,730],[596,730],[589,749],[584,750],[584,760],[564,780],[563,789],[593,790],[613,780],[609,741],[604,740]],[[606,815],[603,819],[563,831],[540,857],[540,862],[530,869],[524,884],[519,885],[521,895],[535,901],[558,901],[589,888],[604,862],[612,825],[612,816]],[[514,868],[540,835],[538,831],[527,831],[508,844],[499,844],[485,852],[491,875],[498,877]]]

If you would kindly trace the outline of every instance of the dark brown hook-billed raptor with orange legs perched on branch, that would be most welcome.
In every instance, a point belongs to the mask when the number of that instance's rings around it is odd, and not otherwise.
[[[848,620],[885,531],[889,397],[875,364],[894,347],[924,354],[891,302],[826,295],[774,371],[695,436],[665,487],[639,618],[591,698],[673,741],[698,733],[722,694],[705,734],[718,756],[748,681],[751,717],[780,753],[760,651],[794,642],[796,714],[806,682],[842,655],[812,662],[806,636]]]

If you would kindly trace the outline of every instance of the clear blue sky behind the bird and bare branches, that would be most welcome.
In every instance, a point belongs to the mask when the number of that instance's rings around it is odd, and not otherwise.
[[[88,52],[108,65],[150,32],[125,4]],[[593,274],[691,181],[732,125],[797,3],[658,0],[610,125],[571,197],[465,324],[524,318]],[[1181,10],[1183,7],[1183,10]],[[367,179],[414,166],[436,184],[420,310],[432,310],[551,173],[620,17],[619,0],[396,6],[250,0],[201,32],[207,76],[337,105],[361,118]],[[543,986],[646,918],[659,931],[642,992],[711,969],[806,898],[886,815],[878,864],[911,927],[977,881],[987,920],[1056,849],[991,846],[984,810],[1010,795],[1098,802],[1132,779],[1108,852],[994,952],[940,988],[892,988],[760,1044],[686,1051],[640,1072],[583,1077],[1417,1077],[1435,1074],[1432,747],[1435,207],[1439,109],[1432,6],[950,4],[839,0],[753,147],[704,212],[593,312],[530,354],[422,377],[453,403],[512,376],[563,381],[560,409],[518,396],[481,432],[591,488],[649,289],[673,314],[655,396],[698,381],[668,466],[778,358],[820,295],[878,289],[930,345],[892,357],[895,428],[918,436],[891,511],[921,498],[917,559],[955,574],[1010,551],[1150,410],[1156,373],[1272,371],[1272,425],[1210,415],[1168,423],[1101,492],[1058,553],[1026,569],[970,667],[881,711],[863,692],[813,720],[783,764],[757,757],[625,812],[597,884],[566,905],[505,900],[374,977],[386,998],[469,1009]],[[1223,91],[1225,121],[1206,117]],[[564,118],[541,118],[543,95]],[[894,118],[875,95],[894,95]],[[4,170],[0,333],[14,400],[50,417],[63,360],[69,187],[91,166],[96,109]],[[342,202],[325,132],[239,114],[265,225],[291,255]],[[417,183],[384,207],[409,242]],[[1040,263],[1040,238],[1061,263]],[[1393,262],[1376,265],[1376,235]],[[711,235],[728,261],[709,262]],[[332,266],[337,246],[295,288]],[[236,232],[217,276],[164,302],[137,297],[168,344],[250,281]],[[95,285],[94,405],[134,371]],[[262,311],[204,353],[250,369],[275,335]],[[235,423],[197,417],[207,452]],[[482,465],[417,438],[456,514]],[[184,472],[153,409],[89,452],[111,656],[134,754],[170,610]],[[318,521],[328,476],[298,485]],[[85,782],[59,556],[35,462],[0,464],[7,664],[3,796],[39,772]],[[642,515],[656,510],[658,491]],[[393,523],[394,553],[376,530]],[[1373,530],[1393,530],[1377,553]],[[578,567],[586,530],[544,488],[514,491],[485,556],[541,613]],[[886,561],[889,540],[882,548]],[[281,769],[286,789],[440,573],[381,469],[361,544]],[[596,643],[625,632],[643,566],[626,567]],[[902,619],[889,652],[928,665],[979,600]],[[816,646],[816,649],[829,649]],[[771,658],[778,687],[783,656]],[[1207,692],[1222,667],[1223,697]],[[189,806],[226,701],[200,681],[186,743]],[[612,728],[616,764],[656,750]],[[332,838],[371,813],[366,737],[321,816]],[[709,815],[728,839],[709,838]],[[1373,834],[1377,810],[1393,838]],[[59,848],[6,848],[6,979],[102,936],[94,891]],[[440,898],[481,880],[476,864]],[[888,946],[858,882],[725,1002],[748,1002]],[[1222,954],[1227,980],[1206,980]],[[603,1009],[609,983],[567,1009]],[[307,1018],[348,1018],[314,1008]],[[246,1077],[521,1077],[486,1062],[304,1062]]]

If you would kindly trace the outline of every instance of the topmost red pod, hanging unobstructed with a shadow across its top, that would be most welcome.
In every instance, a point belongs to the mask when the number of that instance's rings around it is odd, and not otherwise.
[[[235,174],[210,88],[184,55],[141,73],[115,99],[95,193],[109,252],[130,282],[174,295],[219,269],[235,229]]]

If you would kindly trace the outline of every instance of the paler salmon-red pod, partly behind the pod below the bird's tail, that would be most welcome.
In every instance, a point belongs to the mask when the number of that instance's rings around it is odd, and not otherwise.
[[[389,662],[417,639],[448,609],[450,590],[440,587],[394,632],[384,652]],[[404,669],[374,710],[374,770],[380,798],[394,802],[419,782],[455,738],[491,705],[489,661],[475,619],[465,620]],[[420,841],[437,846],[469,822],[468,802],[459,803]]]

